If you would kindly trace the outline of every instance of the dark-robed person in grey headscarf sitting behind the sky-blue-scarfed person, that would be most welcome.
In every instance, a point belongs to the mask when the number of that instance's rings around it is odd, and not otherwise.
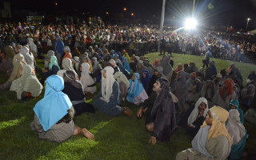
[[[84,112],[95,113],[94,106],[86,103],[85,93],[82,83],[78,80],[78,74],[74,70],[66,70],[63,74],[64,89],[62,92],[69,96],[74,106],[75,115],[78,116]]]

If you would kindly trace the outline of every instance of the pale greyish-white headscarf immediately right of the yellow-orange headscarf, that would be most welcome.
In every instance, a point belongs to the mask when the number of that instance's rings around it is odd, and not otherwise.
[[[245,126],[243,126],[240,122],[239,115],[238,110],[230,110],[229,120],[226,122],[226,130],[230,134],[232,145],[240,142],[241,139],[246,135]]]

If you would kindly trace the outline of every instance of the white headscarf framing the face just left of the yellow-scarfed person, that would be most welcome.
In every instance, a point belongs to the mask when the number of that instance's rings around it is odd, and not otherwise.
[[[203,113],[203,117],[206,117],[206,114],[207,114],[207,112],[209,110],[207,99],[206,98],[199,98],[198,102],[196,102],[195,105],[194,105],[194,110],[191,112],[190,117],[187,119],[187,125],[194,127],[194,125],[192,123],[198,118],[198,114],[199,114],[198,106],[202,102],[206,103],[206,110]]]

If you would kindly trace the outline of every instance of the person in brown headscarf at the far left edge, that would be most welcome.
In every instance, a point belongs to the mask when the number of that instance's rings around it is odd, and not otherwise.
[[[15,55],[13,47],[6,46],[6,48],[4,48],[4,52],[6,53],[6,58],[0,64],[0,71],[7,71],[14,67],[12,64]]]

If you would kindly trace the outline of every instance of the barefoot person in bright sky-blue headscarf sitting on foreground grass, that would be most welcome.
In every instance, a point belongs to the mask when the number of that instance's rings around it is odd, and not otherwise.
[[[53,142],[63,142],[72,135],[82,133],[86,138],[94,139],[88,130],[74,125],[74,109],[70,98],[63,94],[63,78],[52,75],[46,79],[45,96],[34,106],[32,130],[39,138]]]

